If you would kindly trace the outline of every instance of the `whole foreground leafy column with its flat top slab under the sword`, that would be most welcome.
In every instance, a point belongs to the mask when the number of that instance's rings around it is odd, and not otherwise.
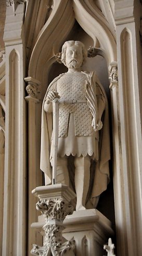
[[[75,242],[73,237],[68,241],[62,237],[63,220],[73,213],[70,200],[76,197],[73,191],[62,184],[48,185],[35,188],[32,193],[40,199],[36,209],[41,211],[44,225],[43,247],[33,245],[33,255],[75,255]],[[33,223],[32,226],[39,226]]]

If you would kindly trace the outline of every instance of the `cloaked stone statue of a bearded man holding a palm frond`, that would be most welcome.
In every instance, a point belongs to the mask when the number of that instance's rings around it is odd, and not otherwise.
[[[41,170],[51,183],[53,165],[52,100],[59,100],[57,183],[70,186],[68,158],[74,157],[76,210],[96,207],[109,180],[110,146],[107,98],[96,74],[81,71],[87,57],[84,44],[68,41],[61,60],[68,68],[48,86],[42,108]],[[91,165],[96,162],[94,169]],[[92,170],[92,171],[91,171]]]

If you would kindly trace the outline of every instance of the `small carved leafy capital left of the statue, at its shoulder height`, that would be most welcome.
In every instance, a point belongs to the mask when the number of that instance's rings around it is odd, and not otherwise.
[[[24,78],[24,81],[28,83],[28,85],[25,87],[25,91],[27,92],[28,96],[26,96],[25,99],[29,100],[29,98],[32,98],[39,102],[40,99],[38,99],[38,95],[41,92],[40,82],[32,78],[31,76]]]

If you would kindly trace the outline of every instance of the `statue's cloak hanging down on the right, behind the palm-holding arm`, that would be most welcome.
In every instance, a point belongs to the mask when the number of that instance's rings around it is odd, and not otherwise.
[[[104,113],[103,126],[99,131],[99,159],[95,168],[94,185],[91,201],[95,200],[103,191],[107,189],[109,182],[109,159],[110,159],[110,136],[109,136],[109,116],[108,100],[104,88],[96,76],[96,97],[100,112]],[[101,113],[100,113],[101,115]],[[101,181],[101,182],[100,182]]]

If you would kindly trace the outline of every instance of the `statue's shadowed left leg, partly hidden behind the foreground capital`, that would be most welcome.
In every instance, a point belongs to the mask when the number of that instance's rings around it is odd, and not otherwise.
[[[68,172],[68,158],[58,157],[57,158],[57,176],[56,182],[59,184],[66,184],[69,186],[69,172]]]

